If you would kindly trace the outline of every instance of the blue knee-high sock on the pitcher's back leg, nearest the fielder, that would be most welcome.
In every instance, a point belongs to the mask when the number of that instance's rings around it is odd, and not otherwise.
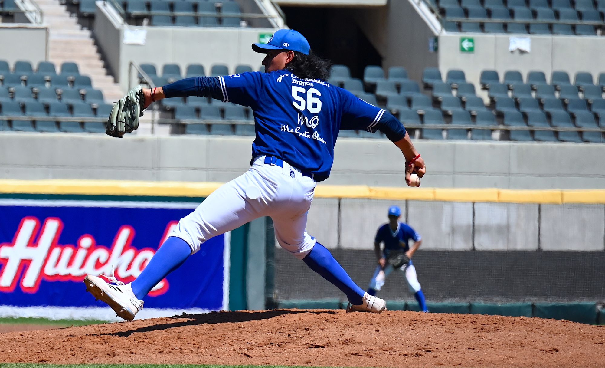
[[[344,271],[338,261],[332,257],[332,253],[324,246],[316,242],[313,249],[302,260],[310,269],[333,283],[338,289],[341,289],[347,295],[351,304],[359,305],[363,303],[363,289],[351,280],[347,271]]]

